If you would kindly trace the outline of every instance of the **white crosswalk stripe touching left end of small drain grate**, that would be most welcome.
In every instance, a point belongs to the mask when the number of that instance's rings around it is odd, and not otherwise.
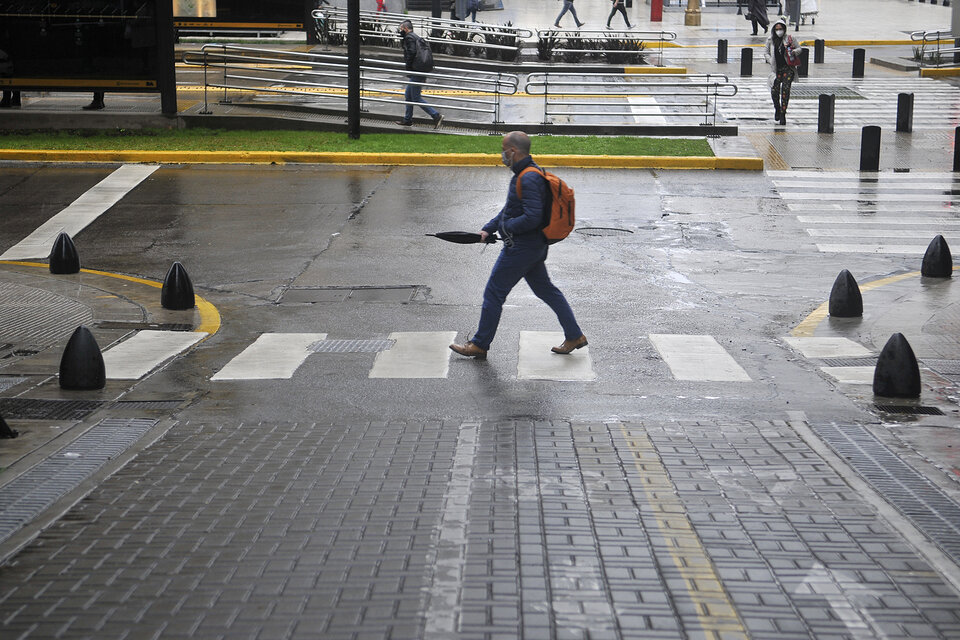
[[[325,333],[264,333],[228,362],[211,380],[274,380],[292,378],[311,353],[310,345]]]

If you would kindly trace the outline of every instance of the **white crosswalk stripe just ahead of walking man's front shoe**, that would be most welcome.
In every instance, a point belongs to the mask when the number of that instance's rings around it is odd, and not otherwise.
[[[377,354],[371,378],[446,378],[450,343],[456,331],[399,331],[390,334],[393,347]]]

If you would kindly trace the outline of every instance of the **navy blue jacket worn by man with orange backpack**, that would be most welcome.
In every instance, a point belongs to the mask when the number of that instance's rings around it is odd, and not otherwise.
[[[514,244],[544,245],[547,239],[541,233],[543,228],[543,202],[546,196],[546,181],[536,171],[523,176],[523,199],[517,196],[517,176],[527,167],[537,167],[533,158],[527,156],[511,167],[513,177],[507,190],[507,202],[494,218],[483,225],[487,233],[496,231],[501,237],[512,239]],[[507,242],[509,244],[509,241]]]

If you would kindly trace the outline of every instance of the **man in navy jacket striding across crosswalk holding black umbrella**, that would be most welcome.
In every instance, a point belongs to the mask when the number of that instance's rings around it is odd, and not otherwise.
[[[503,303],[510,291],[521,279],[526,280],[534,295],[543,300],[557,314],[563,327],[564,340],[551,351],[568,354],[574,349],[587,346],[587,337],[580,330],[570,304],[563,293],[550,282],[547,275],[547,247],[545,235],[545,203],[552,201],[553,188],[548,175],[530,156],[530,137],[522,131],[511,131],[503,137],[501,160],[513,171],[507,202],[490,222],[480,230],[481,241],[496,232],[503,240],[503,249],[493,265],[490,278],[483,291],[483,306],[477,332],[465,344],[452,344],[450,348],[463,356],[483,360],[497,333]],[[554,176],[555,181],[560,182]],[[560,182],[561,188],[565,187]],[[568,188],[569,191],[569,188]],[[572,192],[568,193],[572,197]],[[552,204],[556,204],[552,201]],[[551,207],[552,208],[552,207]],[[571,203],[572,218],[572,203]],[[570,220],[572,228],[572,219]],[[569,233],[569,229],[566,229]]]

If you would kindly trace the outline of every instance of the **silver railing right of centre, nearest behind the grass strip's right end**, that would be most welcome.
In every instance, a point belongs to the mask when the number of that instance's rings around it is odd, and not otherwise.
[[[716,124],[717,99],[737,94],[737,86],[723,74],[657,74],[634,76],[625,81],[622,74],[584,75],[582,73],[532,73],[524,91],[543,96],[543,123],[552,117],[606,119],[663,117],[702,118],[703,124]],[[655,98],[654,103],[630,98]],[[645,107],[655,109],[646,112]],[[664,111],[668,109],[668,111]]]

